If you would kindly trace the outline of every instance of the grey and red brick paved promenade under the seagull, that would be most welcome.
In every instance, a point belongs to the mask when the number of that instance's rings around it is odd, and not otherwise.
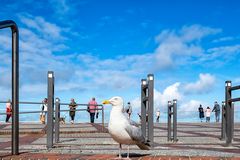
[[[154,148],[150,151],[130,147],[131,159],[240,159],[240,124],[235,124],[233,145],[219,140],[221,124],[178,123],[177,143],[167,142],[166,124],[155,124]],[[11,125],[0,124],[0,157],[4,159],[114,159],[118,144],[102,130],[101,124],[61,125],[60,143],[46,149],[45,125],[20,124],[20,152],[11,153]],[[123,146],[123,156],[127,147]],[[43,154],[44,153],[44,154]]]

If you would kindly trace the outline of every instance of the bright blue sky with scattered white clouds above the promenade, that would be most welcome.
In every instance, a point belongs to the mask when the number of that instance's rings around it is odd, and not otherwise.
[[[115,95],[139,110],[140,81],[155,75],[155,107],[180,111],[224,98],[240,83],[240,8],[230,1],[2,0],[0,20],[20,31],[20,100],[55,94],[79,103]],[[10,97],[11,34],[0,31],[0,99]],[[236,95],[237,96],[237,95]]]

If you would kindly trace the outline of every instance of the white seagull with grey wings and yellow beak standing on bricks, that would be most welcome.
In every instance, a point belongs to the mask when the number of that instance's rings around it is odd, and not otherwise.
[[[123,99],[121,97],[113,97],[103,101],[103,104],[111,104],[112,110],[108,124],[109,134],[113,140],[119,143],[119,158],[121,159],[122,144],[128,145],[127,158],[129,159],[129,145],[137,145],[142,150],[149,150],[150,144],[147,141],[139,125],[130,120],[124,113]]]

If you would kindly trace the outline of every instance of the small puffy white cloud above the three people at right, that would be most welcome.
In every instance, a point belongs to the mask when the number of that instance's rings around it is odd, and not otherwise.
[[[197,82],[186,84],[183,89],[186,94],[203,94],[210,92],[214,83],[215,77],[213,75],[201,73]]]

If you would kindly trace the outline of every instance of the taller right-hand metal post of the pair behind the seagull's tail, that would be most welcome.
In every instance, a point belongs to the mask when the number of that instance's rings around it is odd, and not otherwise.
[[[154,97],[154,75],[149,74],[148,75],[148,140],[151,143],[151,146],[153,146],[153,133],[154,133],[154,124],[153,124],[153,111],[154,111],[154,103],[153,103],[153,97]]]

